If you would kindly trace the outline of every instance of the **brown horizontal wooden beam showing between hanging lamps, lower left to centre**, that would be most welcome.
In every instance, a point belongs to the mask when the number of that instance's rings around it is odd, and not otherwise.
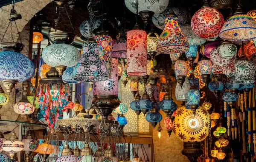
[[[35,137],[37,137],[38,139],[43,139],[43,131],[34,131],[35,132]],[[48,132],[48,136],[51,137],[51,132]],[[99,139],[99,135],[95,135],[98,139]],[[93,134],[90,134],[90,139],[92,142],[98,142],[97,138],[95,137]],[[63,133],[59,133],[58,134],[59,140],[65,140]],[[45,139],[46,137],[44,137]],[[50,140],[54,140],[54,139],[50,139]],[[74,141],[75,138],[73,136],[73,134],[70,134],[68,137],[68,140],[72,140]],[[80,137],[80,139],[76,139],[79,141],[84,141],[83,137]],[[151,137],[132,137],[132,136],[127,136],[127,137],[122,137],[120,139],[120,143],[138,143],[138,144],[152,144],[152,138]]]

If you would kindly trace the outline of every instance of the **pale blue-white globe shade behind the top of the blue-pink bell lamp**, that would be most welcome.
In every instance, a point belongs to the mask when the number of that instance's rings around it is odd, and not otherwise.
[[[102,23],[102,19],[93,17],[91,22],[92,22],[92,27],[93,27],[92,31],[93,31],[96,28],[99,28],[99,26]],[[82,36],[84,36],[84,38],[88,39],[90,36],[89,32],[90,32],[90,19],[86,19],[80,25],[80,33],[82,34]],[[92,34],[93,34],[93,32],[92,32]]]

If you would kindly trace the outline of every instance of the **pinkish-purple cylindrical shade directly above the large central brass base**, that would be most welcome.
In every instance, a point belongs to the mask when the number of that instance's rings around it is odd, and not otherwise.
[[[95,82],[93,95],[116,95],[118,96],[118,59],[112,58],[111,78],[106,81]]]

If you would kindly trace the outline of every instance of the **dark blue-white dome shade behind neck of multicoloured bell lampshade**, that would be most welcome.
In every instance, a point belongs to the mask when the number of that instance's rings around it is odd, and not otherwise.
[[[163,30],[164,29],[164,22],[166,20],[166,17],[168,16],[168,14],[173,11],[180,22],[180,27],[182,27],[188,20],[191,19],[191,14],[188,13],[188,10],[186,8],[181,8],[181,7],[172,7],[172,5],[169,3],[168,7],[166,8],[166,10],[164,10],[163,12],[161,12],[160,14],[154,14],[153,18],[152,18],[152,22],[154,23],[154,25]],[[189,16],[187,16],[189,15]]]

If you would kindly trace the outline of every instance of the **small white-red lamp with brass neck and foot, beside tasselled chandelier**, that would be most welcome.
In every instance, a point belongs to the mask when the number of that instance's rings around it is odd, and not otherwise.
[[[22,98],[19,102],[15,103],[13,106],[14,111],[19,115],[16,121],[20,122],[30,122],[29,116],[35,110],[35,106],[29,102],[27,98],[27,89],[29,87],[28,81],[23,81],[22,83],[23,92]]]

